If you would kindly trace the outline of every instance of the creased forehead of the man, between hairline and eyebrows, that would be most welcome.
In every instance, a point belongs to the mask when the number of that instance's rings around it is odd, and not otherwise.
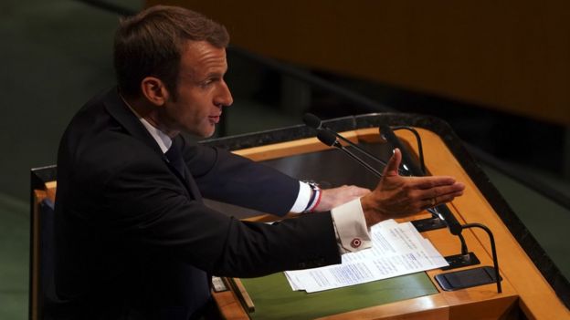
[[[207,73],[225,73],[227,70],[226,48],[212,46],[206,41],[188,41],[180,58],[182,73],[196,76]]]

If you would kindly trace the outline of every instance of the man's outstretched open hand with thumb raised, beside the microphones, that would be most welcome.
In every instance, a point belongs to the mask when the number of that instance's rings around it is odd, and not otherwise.
[[[438,204],[452,201],[463,194],[465,185],[447,176],[402,177],[398,168],[400,150],[385,166],[383,177],[375,190],[364,195],[361,203],[368,226],[386,219],[402,218],[422,212]]]

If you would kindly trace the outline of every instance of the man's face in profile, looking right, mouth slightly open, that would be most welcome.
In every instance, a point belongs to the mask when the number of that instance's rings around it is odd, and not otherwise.
[[[226,49],[189,41],[180,59],[176,97],[171,94],[164,105],[168,129],[211,137],[222,107],[233,102],[226,71]]]

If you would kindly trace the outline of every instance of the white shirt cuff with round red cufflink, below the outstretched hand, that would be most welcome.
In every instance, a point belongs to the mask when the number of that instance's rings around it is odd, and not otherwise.
[[[360,199],[354,199],[331,211],[341,253],[353,253],[372,247]]]

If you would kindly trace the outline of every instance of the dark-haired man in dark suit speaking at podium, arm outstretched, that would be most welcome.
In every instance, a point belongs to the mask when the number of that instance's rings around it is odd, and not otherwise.
[[[157,6],[121,22],[118,87],[71,120],[58,151],[58,319],[190,319],[208,315],[209,274],[251,277],[340,263],[369,246],[367,228],[459,196],[449,177],[397,175],[400,153],[374,191],[319,190],[181,135],[214,133],[232,104],[228,36],[194,12]],[[262,212],[240,222],[202,197]],[[358,242],[354,242],[358,240]],[[355,244],[356,243],[356,244]]]

